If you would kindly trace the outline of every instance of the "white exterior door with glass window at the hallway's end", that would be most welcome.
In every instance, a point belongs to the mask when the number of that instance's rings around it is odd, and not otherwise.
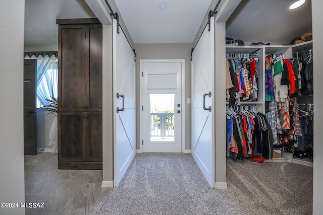
[[[143,152],[182,152],[182,63],[143,63]]]

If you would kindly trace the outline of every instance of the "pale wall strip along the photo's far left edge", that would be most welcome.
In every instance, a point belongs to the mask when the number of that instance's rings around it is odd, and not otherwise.
[[[23,56],[24,0],[0,7],[0,202],[24,202]],[[0,214],[25,214],[2,208]]]

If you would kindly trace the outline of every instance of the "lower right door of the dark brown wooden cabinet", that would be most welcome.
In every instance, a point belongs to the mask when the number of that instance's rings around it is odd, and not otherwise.
[[[88,147],[87,147],[87,161],[102,162],[102,114],[90,115],[87,113],[88,123]]]

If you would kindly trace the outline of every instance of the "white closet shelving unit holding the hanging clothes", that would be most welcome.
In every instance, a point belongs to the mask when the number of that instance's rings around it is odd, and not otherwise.
[[[265,57],[267,54],[283,54],[284,58],[292,58],[294,52],[301,52],[312,48],[312,41],[296,45],[259,45],[259,46],[226,46],[227,54],[244,54],[248,53],[250,56],[259,59],[257,63],[258,73],[258,101],[243,102],[241,105],[255,105],[256,110],[260,113],[265,113]],[[228,105],[228,102],[226,102]],[[282,151],[281,158],[273,158],[266,160],[266,162],[289,162],[298,163],[306,166],[313,166],[312,162],[305,161],[303,159],[293,159],[293,154],[285,153]]]

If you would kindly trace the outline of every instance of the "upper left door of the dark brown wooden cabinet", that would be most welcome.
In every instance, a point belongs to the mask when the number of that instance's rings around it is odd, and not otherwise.
[[[85,111],[86,107],[86,28],[60,26],[59,105],[60,111]]]

